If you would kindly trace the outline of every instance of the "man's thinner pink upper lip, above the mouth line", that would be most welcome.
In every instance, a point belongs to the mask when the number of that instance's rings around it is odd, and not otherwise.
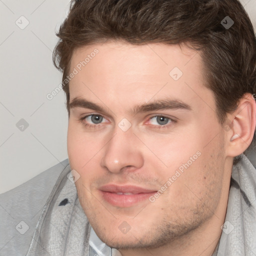
[[[147,188],[134,186],[134,185],[117,185],[117,184],[106,184],[106,185],[100,186],[98,189],[105,192],[112,192],[112,193],[121,192],[121,193],[133,193],[133,194],[150,193],[150,192],[156,191],[153,189],[147,189]]]

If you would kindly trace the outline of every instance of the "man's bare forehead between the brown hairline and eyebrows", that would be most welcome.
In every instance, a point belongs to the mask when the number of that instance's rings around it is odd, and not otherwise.
[[[96,53],[95,53],[96,52]],[[166,95],[183,101],[205,100],[214,108],[212,92],[204,86],[200,52],[181,45],[132,45],[115,41],[74,50],[69,82],[70,99],[83,97],[116,106],[160,99]],[[204,98],[204,100],[201,100]],[[200,101],[200,102],[199,102]]]

